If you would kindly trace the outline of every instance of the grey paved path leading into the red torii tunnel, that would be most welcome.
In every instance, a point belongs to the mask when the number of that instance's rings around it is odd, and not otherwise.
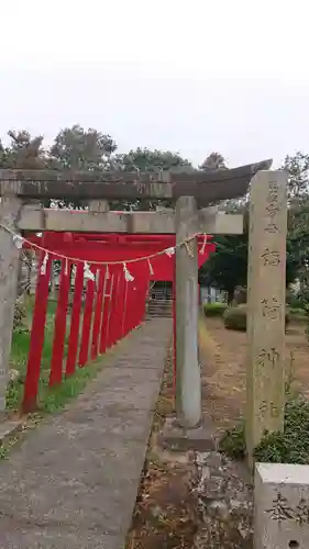
[[[1,549],[122,549],[172,322],[124,339],[85,393],[0,462]]]

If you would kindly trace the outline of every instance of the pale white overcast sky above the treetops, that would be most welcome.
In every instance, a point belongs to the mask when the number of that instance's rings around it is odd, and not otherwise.
[[[2,0],[0,135],[79,123],[230,167],[309,153],[306,3]]]

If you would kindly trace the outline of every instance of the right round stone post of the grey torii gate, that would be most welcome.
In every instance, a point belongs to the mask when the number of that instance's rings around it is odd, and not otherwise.
[[[201,419],[198,245],[197,237],[191,238],[197,233],[196,199],[181,197],[176,202],[176,412],[184,428],[197,427]],[[190,240],[184,244],[186,238]]]

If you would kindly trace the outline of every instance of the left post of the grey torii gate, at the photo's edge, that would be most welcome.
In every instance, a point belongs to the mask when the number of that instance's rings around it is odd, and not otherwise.
[[[18,198],[1,197],[1,225],[15,232],[15,222],[20,211],[21,202]],[[0,226],[0,418],[5,411],[19,256],[20,250],[14,244],[12,234]]]

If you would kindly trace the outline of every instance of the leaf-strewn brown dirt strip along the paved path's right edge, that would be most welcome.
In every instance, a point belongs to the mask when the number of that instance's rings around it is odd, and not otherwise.
[[[197,529],[192,511],[192,466],[184,455],[162,451],[156,437],[174,412],[170,352],[150,438],[144,474],[126,549],[190,549]]]

